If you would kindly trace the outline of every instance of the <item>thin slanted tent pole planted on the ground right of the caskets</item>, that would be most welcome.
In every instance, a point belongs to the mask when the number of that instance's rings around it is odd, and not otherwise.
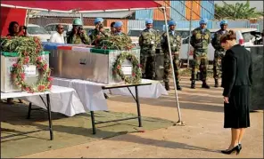
[[[178,115],[178,121],[176,125],[184,125],[184,122],[182,121],[181,113],[180,113],[180,108],[179,108],[179,103],[178,103],[178,97],[177,97],[177,85],[176,85],[176,79],[175,79],[175,74],[174,74],[174,66],[172,62],[172,56],[171,56],[171,48],[169,44],[169,30],[168,30],[168,23],[167,23],[167,16],[166,16],[166,9],[165,7],[162,8],[163,13],[164,13],[164,20],[165,20],[165,28],[166,28],[166,33],[167,33],[167,42],[168,42],[168,47],[169,47],[169,60],[170,60],[170,66],[171,66],[171,72],[173,76],[173,83],[174,83],[174,90],[175,90],[175,95],[176,95],[176,101],[177,101],[177,115]]]

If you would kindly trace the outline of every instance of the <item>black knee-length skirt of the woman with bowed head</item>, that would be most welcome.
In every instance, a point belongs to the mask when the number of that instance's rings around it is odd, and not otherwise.
[[[224,128],[250,127],[250,86],[234,86],[229,97],[229,103],[224,104]]]

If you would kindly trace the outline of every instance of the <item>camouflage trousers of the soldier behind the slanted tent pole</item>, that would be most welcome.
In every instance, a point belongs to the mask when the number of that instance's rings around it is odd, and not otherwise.
[[[173,63],[173,68],[174,68],[175,80],[178,83],[178,81],[179,81],[178,52],[172,53],[172,63]],[[163,66],[164,66],[163,82],[169,83],[169,69],[171,68],[170,60],[169,60],[169,52],[164,52],[164,65]]]

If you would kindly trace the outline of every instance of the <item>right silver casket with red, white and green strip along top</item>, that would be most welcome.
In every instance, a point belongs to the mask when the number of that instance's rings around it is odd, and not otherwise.
[[[47,45],[47,44],[45,44]],[[48,47],[44,47],[47,50]],[[77,45],[57,45],[50,54],[50,68],[53,69],[52,76],[82,79],[96,83],[119,83],[112,76],[112,66],[121,52],[129,52],[140,61],[140,50],[131,51],[101,50],[81,47]],[[124,61],[122,68],[132,68],[130,62]],[[131,73],[131,71],[130,71]],[[127,75],[128,75],[127,74]]]

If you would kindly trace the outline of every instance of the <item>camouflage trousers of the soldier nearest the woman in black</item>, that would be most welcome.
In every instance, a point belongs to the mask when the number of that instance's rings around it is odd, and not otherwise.
[[[225,52],[215,51],[213,59],[213,77],[219,79],[221,76],[222,59],[225,56]]]

